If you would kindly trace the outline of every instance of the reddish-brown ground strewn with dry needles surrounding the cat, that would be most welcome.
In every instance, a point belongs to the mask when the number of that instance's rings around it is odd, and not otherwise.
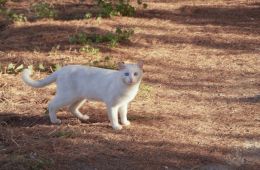
[[[7,6],[30,16],[29,2]],[[104,105],[87,102],[89,122],[64,108],[51,125],[55,85],[33,89],[1,74],[0,169],[260,169],[259,2],[154,0],[135,17],[101,20],[80,19],[91,2],[52,2],[62,17],[0,24],[1,64],[87,64],[96,56],[69,35],[133,28],[130,42],[99,54],[145,62],[132,124],[114,131]]]

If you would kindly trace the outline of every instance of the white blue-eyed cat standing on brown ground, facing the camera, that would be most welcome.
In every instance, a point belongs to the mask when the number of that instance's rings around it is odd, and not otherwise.
[[[123,125],[130,125],[127,120],[127,106],[136,96],[143,77],[143,62],[137,64],[119,63],[119,70],[102,69],[80,65],[69,65],[52,73],[42,80],[32,80],[30,70],[22,73],[23,81],[35,88],[44,87],[56,81],[55,97],[49,102],[49,116],[52,123],[60,124],[56,112],[63,106],[81,120],[89,119],[79,108],[86,100],[102,101],[107,106],[112,127],[122,129],[118,122],[120,115]]]

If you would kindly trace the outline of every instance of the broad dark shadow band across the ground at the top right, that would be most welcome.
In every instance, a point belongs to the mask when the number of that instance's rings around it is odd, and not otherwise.
[[[249,6],[183,6],[174,11],[146,10],[137,13],[141,18],[158,18],[182,24],[219,25],[257,28],[259,31],[260,7]],[[243,29],[243,28],[241,28]]]

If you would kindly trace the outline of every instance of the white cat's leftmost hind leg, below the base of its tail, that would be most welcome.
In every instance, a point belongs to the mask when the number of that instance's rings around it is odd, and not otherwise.
[[[60,124],[61,120],[57,118],[56,112],[63,106],[73,103],[73,99],[56,95],[48,104],[51,123]]]

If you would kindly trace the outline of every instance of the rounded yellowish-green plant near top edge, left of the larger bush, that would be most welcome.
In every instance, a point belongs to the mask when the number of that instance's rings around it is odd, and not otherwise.
[[[33,4],[32,9],[38,18],[55,18],[57,16],[57,12],[53,9],[53,7],[45,2]]]

